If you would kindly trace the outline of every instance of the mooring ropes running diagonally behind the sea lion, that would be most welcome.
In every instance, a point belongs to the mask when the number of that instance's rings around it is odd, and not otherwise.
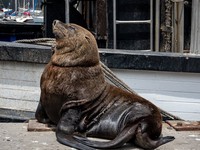
[[[25,40],[18,40],[15,41],[16,43],[31,43],[31,44],[40,44],[40,45],[46,45],[46,46],[52,46],[52,44],[55,42],[54,38],[39,38],[39,39],[25,39]],[[126,83],[124,83],[122,80],[120,80],[106,65],[104,65],[102,62],[101,67],[103,69],[103,72],[105,74],[105,77],[107,80],[109,80],[112,84],[115,86],[122,88],[124,90],[127,90],[130,93],[137,94],[134,90],[132,90]],[[138,95],[138,94],[137,94]],[[183,120],[177,116],[174,116],[161,108],[160,112],[163,116],[168,117],[172,120]]]

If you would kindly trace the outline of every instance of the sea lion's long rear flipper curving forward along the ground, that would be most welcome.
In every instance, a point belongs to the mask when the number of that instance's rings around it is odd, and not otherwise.
[[[122,145],[124,145],[126,142],[128,142],[133,136],[135,135],[135,131],[138,124],[135,124],[133,126],[126,127],[120,132],[115,139],[108,141],[108,142],[101,142],[101,141],[92,141],[87,139],[86,137],[81,137],[74,135],[74,139],[78,142],[85,144],[90,147],[94,148],[117,148]]]

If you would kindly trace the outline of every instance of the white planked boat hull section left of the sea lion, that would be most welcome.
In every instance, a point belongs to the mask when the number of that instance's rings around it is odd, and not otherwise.
[[[35,111],[43,64],[0,61],[0,108]]]

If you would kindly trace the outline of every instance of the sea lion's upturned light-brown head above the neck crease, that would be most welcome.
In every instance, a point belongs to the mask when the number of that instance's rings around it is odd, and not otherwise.
[[[99,63],[98,47],[94,36],[76,24],[54,20],[56,45],[52,63],[58,66],[93,66]]]

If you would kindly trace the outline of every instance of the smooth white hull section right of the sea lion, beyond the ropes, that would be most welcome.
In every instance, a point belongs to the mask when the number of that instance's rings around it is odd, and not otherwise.
[[[157,71],[113,70],[141,96],[185,120],[200,120],[200,75]]]

